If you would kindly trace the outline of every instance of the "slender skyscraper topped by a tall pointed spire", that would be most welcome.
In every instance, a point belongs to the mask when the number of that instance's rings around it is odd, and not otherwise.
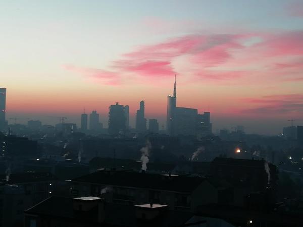
[[[176,94],[176,75],[174,83],[174,94],[173,96],[167,96],[167,115],[166,115],[166,131],[168,135],[173,135],[173,121],[174,121],[174,110],[177,106],[177,94]]]

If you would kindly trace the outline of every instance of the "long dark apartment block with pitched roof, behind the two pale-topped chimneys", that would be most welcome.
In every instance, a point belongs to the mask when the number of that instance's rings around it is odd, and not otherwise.
[[[72,195],[100,196],[118,204],[152,201],[170,210],[195,211],[198,205],[218,202],[218,188],[206,178],[129,171],[98,171],[72,180]]]

